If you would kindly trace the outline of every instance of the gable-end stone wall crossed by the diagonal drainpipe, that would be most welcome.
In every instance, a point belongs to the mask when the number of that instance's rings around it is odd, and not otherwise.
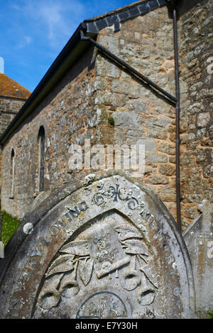
[[[173,21],[166,7],[100,32],[99,43],[175,96]],[[114,119],[99,126],[100,142],[146,148],[143,181],[175,217],[175,108],[102,55],[96,103]]]

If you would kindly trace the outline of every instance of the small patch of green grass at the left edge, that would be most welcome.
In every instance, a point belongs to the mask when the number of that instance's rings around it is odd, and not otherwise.
[[[6,212],[1,212],[3,216],[3,225],[1,229],[1,242],[4,243],[4,246],[9,242],[9,239],[12,237],[13,233],[19,227],[19,221],[16,218],[13,218]]]

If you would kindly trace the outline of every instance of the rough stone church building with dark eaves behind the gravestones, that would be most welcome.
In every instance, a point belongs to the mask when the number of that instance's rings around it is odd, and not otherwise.
[[[90,37],[175,96],[173,1],[138,1],[85,20],[1,135],[2,209],[18,218],[70,182],[73,145],[146,148],[143,183],[176,218],[175,103],[83,40]],[[175,1],[180,64],[182,227],[212,202],[213,1]],[[82,33],[83,32],[83,33]]]

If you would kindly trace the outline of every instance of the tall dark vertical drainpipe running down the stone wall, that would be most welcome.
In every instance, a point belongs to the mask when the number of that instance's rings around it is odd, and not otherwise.
[[[174,52],[175,52],[175,87],[176,87],[176,209],[177,222],[181,231],[180,213],[180,82],[179,82],[179,61],[178,61],[178,24],[177,11],[173,6],[173,33],[174,33]]]

